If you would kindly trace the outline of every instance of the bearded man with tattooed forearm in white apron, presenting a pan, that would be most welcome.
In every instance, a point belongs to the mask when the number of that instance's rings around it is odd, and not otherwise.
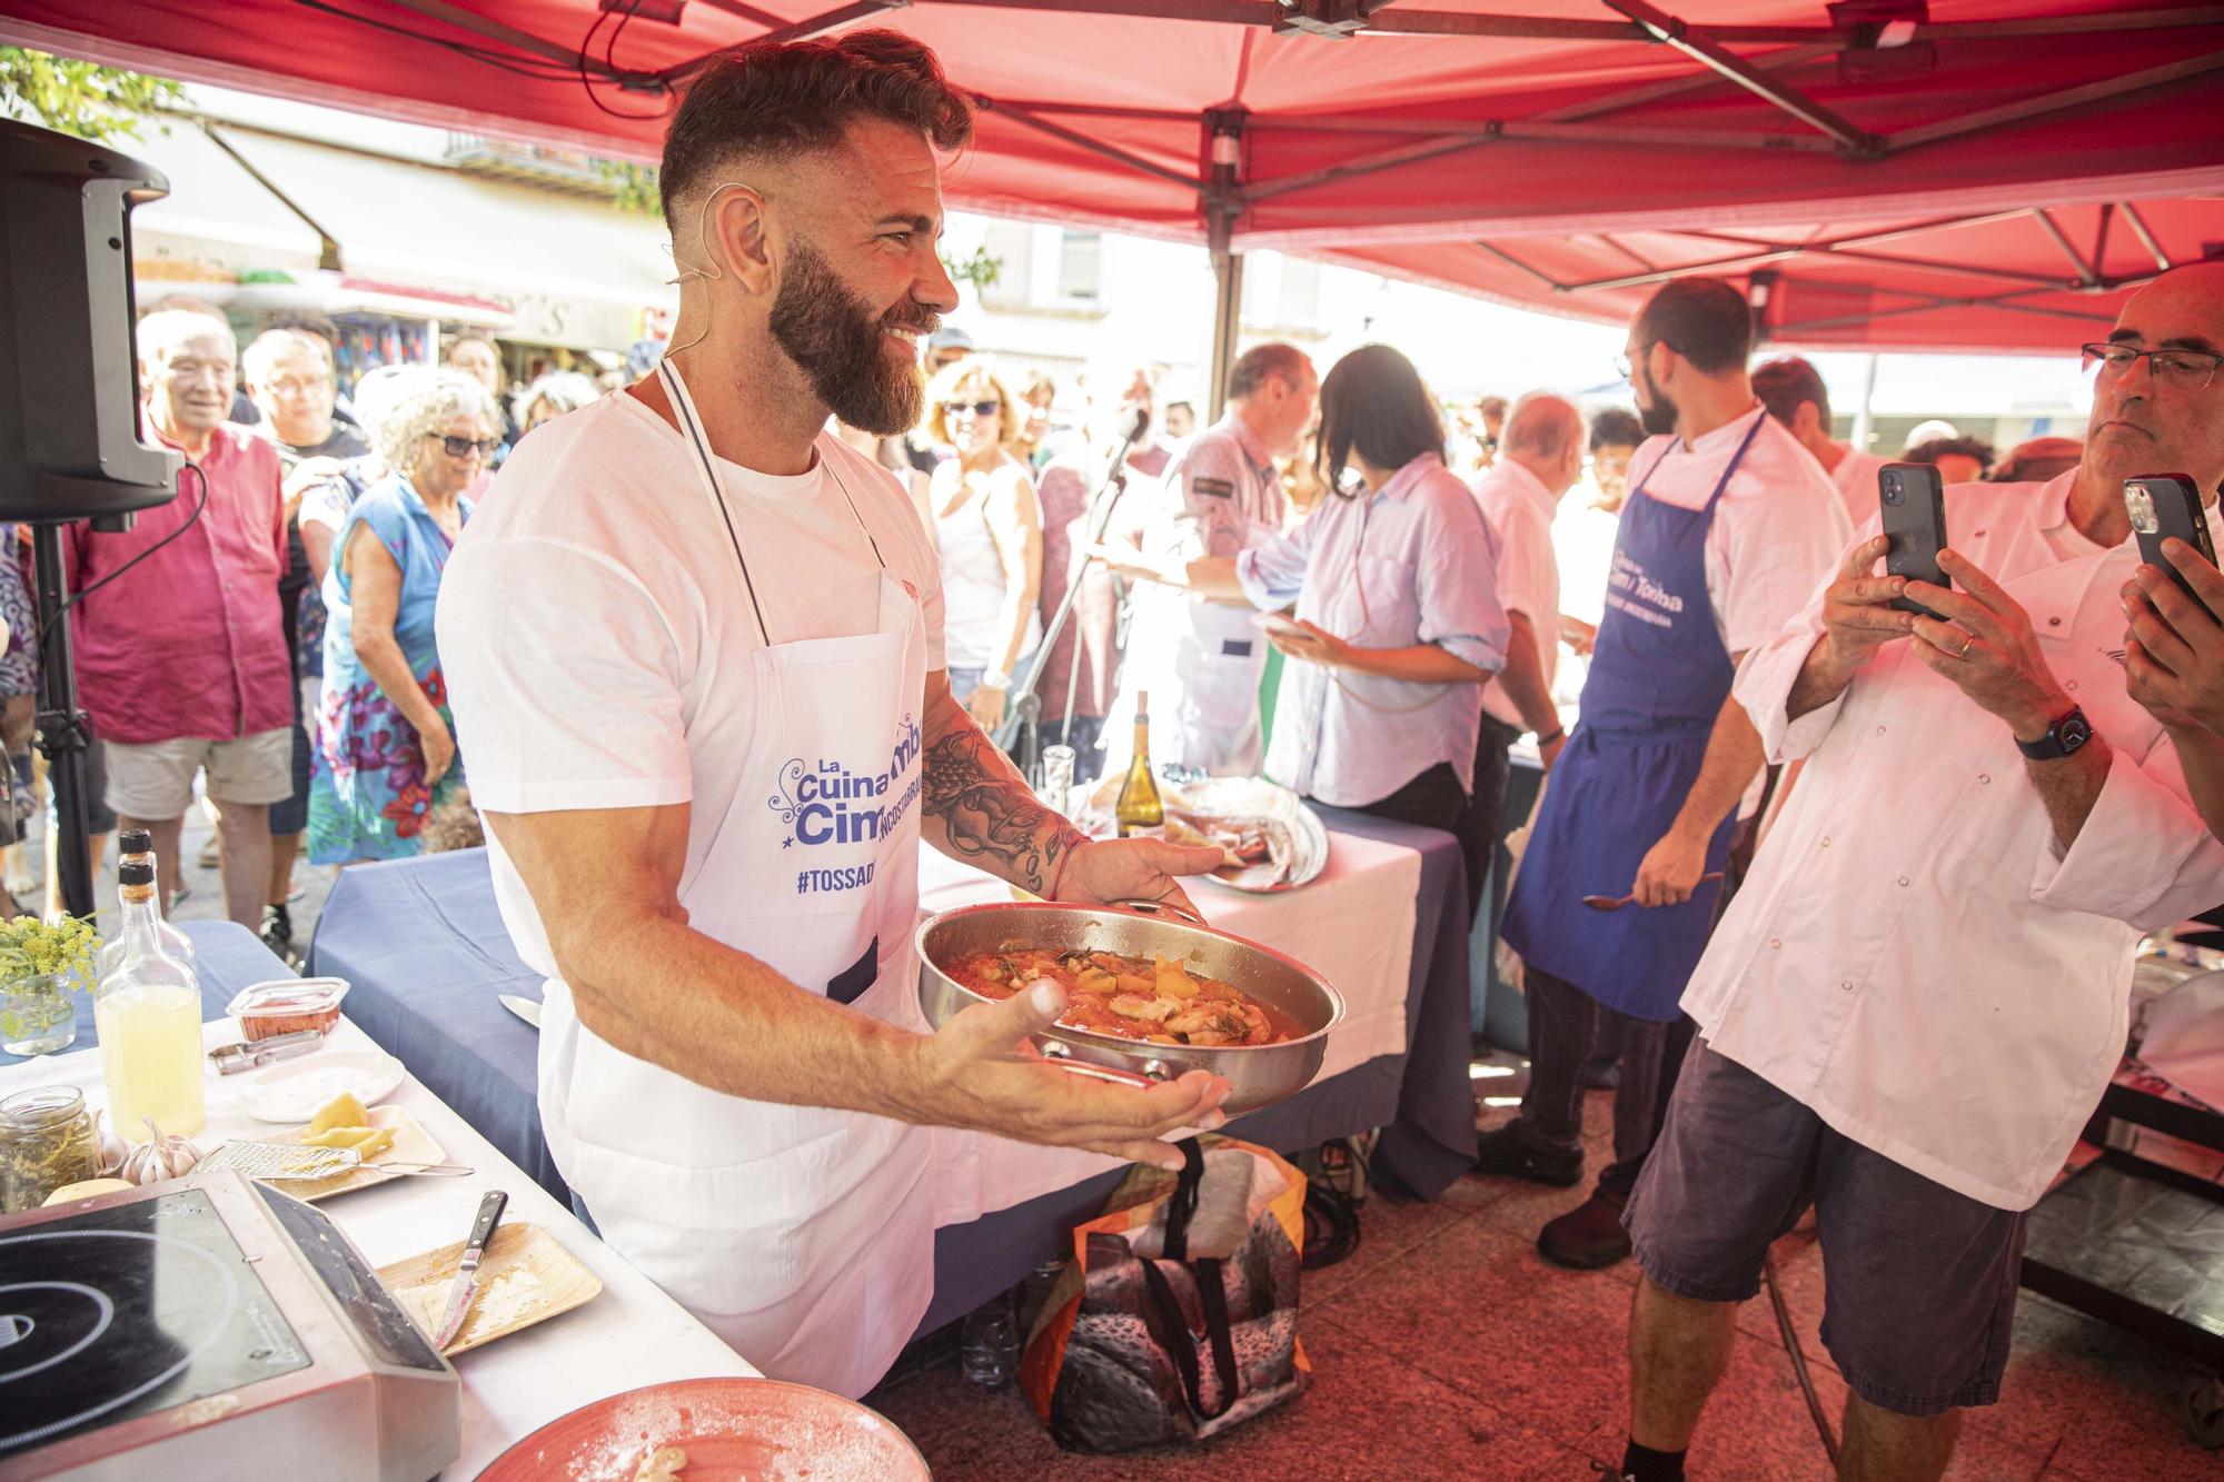
[[[1159,1137],[1228,1093],[1034,1059],[1050,988],[919,1012],[921,837],[1070,901],[1219,859],[1034,803],[950,696],[910,498],[825,429],[919,418],[916,338],[956,305],[936,151],[970,129],[892,31],[718,58],[665,140],[663,367],[518,445],[440,594],[503,921],[549,977],[556,1166],[743,1357],[845,1395],[932,1295],[925,1128],[1179,1166]]]

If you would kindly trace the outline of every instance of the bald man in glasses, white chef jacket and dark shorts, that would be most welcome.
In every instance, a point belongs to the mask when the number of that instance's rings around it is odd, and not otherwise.
[[[2224,478],[2220,349],[2224,263],[2139,289],[2086,349],[2077,470],[1957,487],[1953,587],[1879,574],[1864,539],[1739,670],[1768,759],[1806,772],[1684,992],[1699,1039],[1630,1204],[1624,1475],[1681,1475],[1810,1204],[1839,1475],[1937,1478],[1959,1409],[1999,1397],[2026,1211],[2122,1055],[2139,937],[2224,901],[2191,717],[2124,683],[2124,587],[2153,576],[2124,478]]]

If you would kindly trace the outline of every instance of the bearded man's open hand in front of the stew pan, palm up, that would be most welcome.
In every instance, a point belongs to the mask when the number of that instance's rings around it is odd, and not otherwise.
[[[1030,1035],[1056,1024],[1061,1012],[1065,995],[1039,981],[950,1019],[925,1048],[930,1104],[921,1119],[1168,1170],[1181,1168],[1181,1150],[1165,1137],[1183,1128],[1210,1133],[1228,1122],[1219,1106],[1230,1086],[1210,1070],[1188,1070],[1143,1090],[1052,1066]]]

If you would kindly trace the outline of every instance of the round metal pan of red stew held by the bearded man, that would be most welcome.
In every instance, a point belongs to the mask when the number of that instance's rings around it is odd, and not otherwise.
[[[919,1006],[941,1028],[1052,977],[1070,1006],[1036,1046],[1068,1070],[1145,1086],[1212,1070],[1232,1086],[1232,1115],[1312,1084],[1343,997],[1301,961],[1176,912],[1163,901],[945,910],[914,937]],[[1005,984],[1010,992],[999,992]]]

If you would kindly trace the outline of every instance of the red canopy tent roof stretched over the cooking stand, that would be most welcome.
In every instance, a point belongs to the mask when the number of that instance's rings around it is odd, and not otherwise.
[[[894,24],[983,105],[952,202],[1208,243],[1221,358],[1259,247],[1592,318],[1715,271],[1781,340],[2044,352],[2224,251],[2224,7],[1421,2],[0,0],[0,36],[654,158],[714,49]]]

